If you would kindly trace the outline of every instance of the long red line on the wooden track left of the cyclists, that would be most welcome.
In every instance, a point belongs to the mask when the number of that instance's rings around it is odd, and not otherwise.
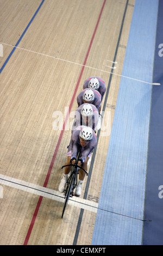
[[[77,93],[77,90],[78,90],[78,87],[79,87],[79,83],[80,83],[80,80],[81,80],[82,75],[83,75],[83,71],[84,71],[84,68],[85,68],[86,60],[87,60],[87,57],[89,56],[93,39],[95,38],[95,34],[96,34],[96,31],[97,31],[97,27],[98,27],[99,21],[100,21],[100,19],[101,19],[101,15],[102,15],[102,12],[103,12],[103,9],[104,9],[105,2],[106,2],[106,0],[104,0],[104,3],[103,3],[103,6],[102,6],[102,9],[101,9],[101,12],[100,12],[100,14],[99,14],[98,21],[97,21],[97,24],[96,24],[96,27],[95,27],[95,31],[93,32],[93,35],[92,35],[92,38],[91,38],[91,42],[90,42],[89,48],[88,48],[88,50],[87,50],[87,53],[86,53],[86,56],[85,56],[85,59],[84,59],[83,67],[82,67],[82,70],[80,71],[80,75],[79,75],[79,78],[78,78],[78,81],[77,81],[77,84],[76,84],[76,88],[75,88],[75,90],[74,90],[74,93],[73,93],[73,96],[72,96],[72,99],[71,99],[71,102],[70,102],[70,106],[69,106],[68,112],[67,112],[67,114],[66,114],[66,118],[65,118],[65,121],[64,121],[62,130],[61,130],[61,132],[60,132],[60,136],[59,136],[59,139],[58,139],[58,142],[57,142],[57,146],[55,147],[55,151],[54,151],[54,154],[53,154],[53,157],[52,157],[52,161],[51,161],[51,164],[50,164],[50,166],[49,166],[49,169],[48,169],[48,172],[47,172],[46,179],[45,179],[45,182],[44,182],[44,184],[43,184],[43,187],[46,187],[46,186],[47,186],[47,183],[48,183],[48,180],[49,180],[49,176],[51,175],[52,168],[53,168],[54,161],[55,161],[55,157],[57,156],[57,153],[58,153],[58,149],[59,149],[59,146],[60,146],[60,142],[61,142],[62,136],[63,136],[63,134],[64,134],[64,130],[65,130],[65,126],[66,126],[66,123],[67,123],[67,120],[68,120],[68,116],[69,116],[69,113],[70,113],[70,111],[71,111],[71,108],[72,108],[72,105],[73,105],[73,101],[74,101],[74,98],[75,98],[75,96],[76,96],[76,93]],[[41,202],[42,202],[42,198],[43,198],[43,197],[40,196],[40,197],[39,197],[39,200],[38,200],[38,202],[37,202],[37,205],[36,205],[36,208],[35,208],[35,211],[34,211],[34,215],[33,215],[33,217],[32,217],[32,221],[30,222],[29,229],[28,229],[26,238],[25,238],[25,240],[24,240],[24,245],[27,245],[27,244],[28,244],[29,237],[30,237],[30,234],[31,234],[31,232],[32,232],[32,229],[33,229],[33,226],[34,226],[36,217],[37,217],[37,213],[38,213],[38,211],[39,211],[39,209],[40,209],[40,205],[41,205]]]

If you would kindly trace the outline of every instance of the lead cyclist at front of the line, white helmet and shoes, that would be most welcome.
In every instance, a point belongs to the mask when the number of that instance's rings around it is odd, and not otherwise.
[[[71,142],[68,147],[68,153],[67,153],[67,163],[66,164],[74,164],[77,159],[77,153],[79,150],[79,147],[82,146],[82,156],[79,159],[78,165],[83,167],[85,170],[87,170],[87,161],[89,160],[92,150],[97,145],[97,139],[95,132],[91,129],[91,127],[87,127],[84,125],[78,126],[76,130],[72,132],[71,135]],[[64,176],[61,179],[60,185],[59,185],[59,191],[64,192],[65,191],[65,185],[67,182],[67,176],[68,173],[70,173],[71,166],[67,166],[64,168]],[[82,169],[79,169],[79,180],[78,185],[75,191],[76,196],[80,196],[81,194],[81,187],[83,184],[83,180],[85,178],[85,172]]]

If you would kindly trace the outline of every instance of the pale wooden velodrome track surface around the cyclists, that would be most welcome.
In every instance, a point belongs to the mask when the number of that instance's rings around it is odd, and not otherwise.
[[[134,3],[0,0],[1,245],[91,245]],[[108,89],[108,132],[101,131],[91,176],[62,219],[61,166],[76,97],[90,76]]]

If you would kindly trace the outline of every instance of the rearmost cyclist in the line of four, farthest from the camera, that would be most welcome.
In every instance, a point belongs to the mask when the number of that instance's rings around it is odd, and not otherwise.
[[[101,77],[91,76],[87,78],[83,85],[83,89],[86,88],[98,90],[98,92],[101,94],[101,101],[103,100],[103,96],[106,92],[106,84]]]

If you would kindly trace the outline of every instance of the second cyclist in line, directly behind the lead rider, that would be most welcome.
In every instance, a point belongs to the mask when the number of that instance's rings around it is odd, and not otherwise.
[[[72,125],[72,131],[79,125],[85,125],[91,127],[93,130],[96,129],[98,124],[98,110],[97,108],[89,103],[84,103],[76,110],[74,123]]]

